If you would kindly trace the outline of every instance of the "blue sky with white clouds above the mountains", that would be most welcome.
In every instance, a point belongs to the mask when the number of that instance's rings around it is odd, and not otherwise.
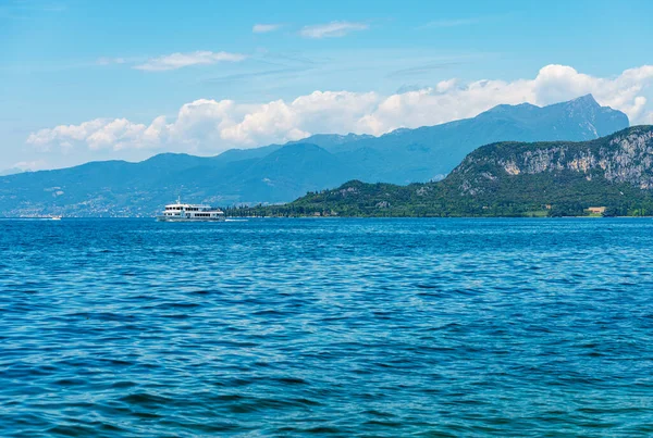
[[[653,124],[652,1],[0,0],[0,171],[381,135],[592,93]]]

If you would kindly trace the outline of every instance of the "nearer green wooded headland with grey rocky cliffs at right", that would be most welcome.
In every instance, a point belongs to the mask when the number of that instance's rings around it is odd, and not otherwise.
[[[653,214],[653,126],[595,140],[497,142],[443,180],[397,186],[358,180],[246,214],[523,216]]]

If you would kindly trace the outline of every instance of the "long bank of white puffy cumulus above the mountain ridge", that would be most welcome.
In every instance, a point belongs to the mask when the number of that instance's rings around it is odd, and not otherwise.
[[[633,124],[653,123],[642,96],[653,83],[653,65],[630,68],[613,78],[582,74],[565,65],[547,65],[533,79],[440,82],[432,87],[381,96],[377,92],[313,91],[292,101],[243,104],[199,99],[176,116],[149,124],[126,118],[96,118],[33,133],[27,142],[63,152],[84,147],[175,149],[218,153],[232,147],[255,147],[298,140],[318,133],[381,135],[471,117],[501,103],[545,105],[592,93],[599,103],[624,111]]]

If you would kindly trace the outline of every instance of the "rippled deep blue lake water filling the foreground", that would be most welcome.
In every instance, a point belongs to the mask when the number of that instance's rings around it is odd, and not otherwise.
[[[0,221],[0,436],[653,435],[652,220]]]

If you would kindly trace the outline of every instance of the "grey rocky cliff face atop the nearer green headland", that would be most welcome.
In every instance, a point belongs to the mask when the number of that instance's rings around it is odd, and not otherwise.
[[[492,188],[500,178],[582,175],[653,189],[653,127],[638,126],[586,142],[494,143],[470,153],[452,173],[464,195]]]

